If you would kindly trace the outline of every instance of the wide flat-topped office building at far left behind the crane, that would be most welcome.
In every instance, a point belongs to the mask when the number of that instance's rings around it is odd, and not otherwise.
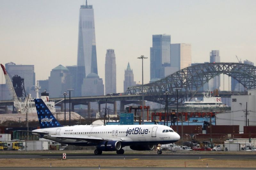
[[[36,73],[34,65],[22,65],[10,62],[5,64],[5,69],[11,76],[11,79],[15,75],[20,76],[20,78],[24,78],[24,89],[26,95],[34,92],[33,86],[36,84]]]

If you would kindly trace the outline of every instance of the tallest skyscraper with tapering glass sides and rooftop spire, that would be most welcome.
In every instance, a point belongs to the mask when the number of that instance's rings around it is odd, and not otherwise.
[[[81,96],[84,78],[90,73],[98,74],[94,12],[92,5],[81,5],[79,11],[76,96]]]

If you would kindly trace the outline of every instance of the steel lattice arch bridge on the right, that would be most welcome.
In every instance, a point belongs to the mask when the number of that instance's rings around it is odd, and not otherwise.
[[[145,100],[165,103],[159,99],[165,99],[165,92],[169,92],[168,103],[173,104],[177,102],[176,92],[179,91],[178,101],[183,103],[193,98],[205,83],[220,74],[235,78],[247,90],[256,88],[255,66],[243,63],[205,63],[184,68],[163,79],[145,84]],[[136,92],[142,92],[142,85],[129,87],[126,94]]]

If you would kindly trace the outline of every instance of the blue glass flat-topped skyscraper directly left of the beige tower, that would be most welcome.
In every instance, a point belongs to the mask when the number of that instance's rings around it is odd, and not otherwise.
[[[164,78],[164,67],[171,66],[171,35],[152,36],[150,48],[150,80]]]

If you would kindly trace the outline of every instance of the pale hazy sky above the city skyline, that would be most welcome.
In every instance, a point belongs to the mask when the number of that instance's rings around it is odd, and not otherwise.
[[[48,79],[62,64],[76,65],[78,19],[85,0],[0,0],[0,63],[34,64],[36,80]],[[123,92],[128,62],[141,81],[150,79],[153,34],[170,34],[171,43],[190,43],[192,63],[256,63],[255,0],[88,0],[94,8],[98,74],[105,84],[106,50],[115,49],[117,92]],[[3,71],[2,71],[3,72]],[[1,82],[4,83],[3,73]]]

